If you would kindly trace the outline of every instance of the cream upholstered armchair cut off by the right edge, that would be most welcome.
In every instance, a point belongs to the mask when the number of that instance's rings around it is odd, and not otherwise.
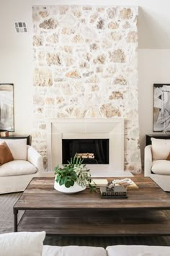
[[[170,140],[151,138],[145,148],[144,175],[150,176],[164,191],[170,191]]]

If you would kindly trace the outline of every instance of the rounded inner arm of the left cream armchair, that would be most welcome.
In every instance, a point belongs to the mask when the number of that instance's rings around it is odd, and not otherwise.
[[[32,163],[37,168],[37,171],[44,171],[42,156],[30,145],[27,145],[27,161]]]

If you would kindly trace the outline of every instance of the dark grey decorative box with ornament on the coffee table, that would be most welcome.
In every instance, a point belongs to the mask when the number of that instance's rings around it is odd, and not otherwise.
[[[108,184],[107,187],[100,187],[101,198],[119,199],[127,198],[126,188],[122,185]]]

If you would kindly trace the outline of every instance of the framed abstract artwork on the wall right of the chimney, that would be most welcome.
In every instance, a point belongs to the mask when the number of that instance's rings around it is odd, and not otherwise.
[[[170,84],[153,84],[153,132],[170,131]]]

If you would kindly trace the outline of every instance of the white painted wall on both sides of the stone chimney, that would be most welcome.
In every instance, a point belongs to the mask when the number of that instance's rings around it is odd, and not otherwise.
[[[6,0],[0,2],[0,82],[14,83],[15,132],[32,132],[32,5],[96,4],[91,0]],[[99,0],[98,5],[139,5],[139,118],[141,153],[152,133],[153,83],[169,82],[169,0]],[[26,22],[17,34],[14,22]]]

